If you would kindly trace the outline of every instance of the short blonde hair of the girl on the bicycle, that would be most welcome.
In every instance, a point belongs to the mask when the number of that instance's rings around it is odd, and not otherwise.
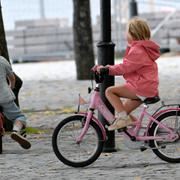
[[[140,18],[131,19],[127,25],[127,31],[133,40],[148,40],[151,37],[148,23]]]

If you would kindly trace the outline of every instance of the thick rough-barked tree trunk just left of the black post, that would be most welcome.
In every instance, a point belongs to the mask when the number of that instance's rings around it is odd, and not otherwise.
[[[89,0],[73,0],[74,54],[77,79],[90,79],[94,66],[94,52]]]

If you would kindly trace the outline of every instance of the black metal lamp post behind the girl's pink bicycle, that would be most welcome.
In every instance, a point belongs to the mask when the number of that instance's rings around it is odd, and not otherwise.
[[[114,46],[115,44],[111,41],[111,0],[101,0],[101,9],[100,9],[100,17],[101,17],[101,40],[98,42],[98,64],[101,65],[113,65],[114,64]],[[106,81],[104,81],[101,85],[101,97],[109,107],[109,110],[114,114],[114,109],[108,102],[105,97],[105,90],[109,86],[114,85],[114,77],[108,76]],[[105,125],[106,120],[104,117],[99,114],[99,119]],[[107,140],[104,145],[104,152],[114,152],[115,150],[115,133],[114,131],[106,131],[107,132]]]

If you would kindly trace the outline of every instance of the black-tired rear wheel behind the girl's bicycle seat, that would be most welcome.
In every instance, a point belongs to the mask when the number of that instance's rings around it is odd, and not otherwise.
[[[157,118],[157,120],[159,122],[163,122],[166,123],[166,121],[172,122],[175,120],[175,118],[178,119],[180,118],[180,111],[170,111],[170,112],[166,112],[164,114],[162,114],[161,116],[159,116]],[[171,120],[171,121],[170,121]],[[179,119],[180,121],[180,119]],[[169,123],[168,122],[168,123]],[[173,124],[172,124],[173,125]],[[179,122],[179,126],[180,126],[180,122]],[[169,124],[170,127],[170,124]],[[173,127],[171,127],[173,128]],[[157,133],[159,134],[167,134],[167,131],[165,132],[164,130],[162,131],[162,129],[158,126],[158,124],[153,123],[151,128],[149,129],[149,135],[150,136],[156,136]],[[180,132],[178,132],[179,134]],[[176,145],[178,145],[179,143],[179,148],[176,147]],[[176,142],[162,142],[162,144],[165,144],[165,146],[159,146],[161,144],[161,142],[158,142],[156,140],[150,140],[149,141],[149,145],[152,148],[152,151],[162,160],[169,162],[169,163],[179,163],[180,162],[180,152],[177,153],[178,155],[175,154],[174,150],[173,150],[173,155],[175,157],[173,157],[172,155],[170,155],[172,148],[175,146],[175,149],[180,149],[180,138],[178,139],[178,141]]]

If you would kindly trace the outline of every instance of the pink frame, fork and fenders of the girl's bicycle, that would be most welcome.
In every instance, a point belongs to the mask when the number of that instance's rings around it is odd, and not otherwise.
[[[169,111],[179,111],[180,108],[167,108],[165,110],[160,110],[157,111],[153,116],[150,115],[146,109],[148,106],[144,105],[142,108],[142,112],[140,115],[139,119],[136,119],[135,121],[135,127],[132,128],[128,128],[126,131],[124,131],[125,135],[130,137],[135,138],[135,140],[137,141],[148,141],[148,140],[169,140],[169,141],[174,141],[176,138],[178,138],[178,135],[173,132],[170,128],[168,128],[166,125],[164,125],[163,123],[157,121],[157,117],[159,117],[160,115],[162,115],[163,113],[169,112]],[[86,113],[79,113],[81,115],[86,116],[86,121],[85,121],[85,125],[80,133],[80,135],[76,138],[77,143],[80,143],[84,137],[84,135],[86,134],[86,132],[88,131],[89,128],[89,123],[91,120],[93,120],[101,129],[102,134],[103,134],[103,140],[106,140],[106,130],[103,126],[103,124],[93,115],[94,114],[94,110],[98,110],[102,116],[106,119],[106,121],[111,124],[112,121],[114,120],[114,115],[109,111],[109,109],[106,107],[106,105],[104,104],[104,102],[102,101],[101,97],[100,97],[100,93],[99,93],[99,85],[96,86],[96,88],[94,89],[91,98],[90,98],[90,104],[89,104],[89,110]],[[147,123],[147,127],[145,129],[144,135],[138,135],[139,131],[141,129],[142,126],[142,121],[144,119],[144,117],[148,117],[148,123]],[[166,136],[149,136],[148,135],[148,130],[151,127],[152,123],[155,122],[159,125],[159,127],[165,129],[168,133],[168,135]]]

